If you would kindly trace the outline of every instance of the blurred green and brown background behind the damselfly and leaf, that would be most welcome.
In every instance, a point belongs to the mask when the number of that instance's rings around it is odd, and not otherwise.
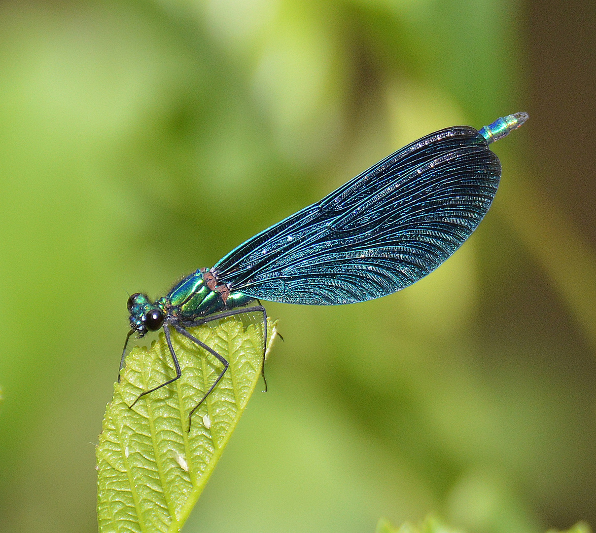
[[[472,238],[267,371],[184,531],[596,523],[592,2],[0,5],[0,531],[97,530],[94,444],[156,296],[403,144],[516,111]]]

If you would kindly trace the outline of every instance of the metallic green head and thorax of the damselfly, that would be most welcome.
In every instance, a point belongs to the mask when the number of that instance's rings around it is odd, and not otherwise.
[[[230,291],[228,286],[215,281],[210,270],[198,269],[153,303],[145,294],[135,294],[131,300],[131,328],[142,337],[152,329],[147,326],[146,321],[154,310],[160,310],[171,324],[190,326],[200,318],[243,306],[254,298]]]

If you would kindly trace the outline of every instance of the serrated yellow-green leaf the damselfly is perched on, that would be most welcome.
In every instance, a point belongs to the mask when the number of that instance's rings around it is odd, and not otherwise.
[[[268,346],[277,322],[268,322]],[[228,443],[259,381],[263,328],[237,317],[189,328],[229,361],[224,378],[188,414],[222,371],[205,350],[176,332],[172,343],[182,369],[174,383],[143,396],[175,375],[163,333],[151,348],[135,347],[105,411],[97,446],[100,533],[179,531]]]

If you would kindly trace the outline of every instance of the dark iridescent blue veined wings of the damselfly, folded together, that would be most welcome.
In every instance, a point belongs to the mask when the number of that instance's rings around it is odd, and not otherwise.
[[[491,206],[500,177],[499,159],[477,130],[437,131],[255,235],[213,271],[232,290],[263,300],[378,298],[459,248]]]

